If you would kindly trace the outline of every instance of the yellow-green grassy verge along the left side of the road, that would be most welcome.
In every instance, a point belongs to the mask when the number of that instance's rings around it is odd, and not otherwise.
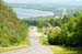
[[[4,53],[4,52],[9,52],[9,51],[14,51],[14,50],[23,48],[23,47],[28,47],[28,46],[30,46],[30,39],[26,39],[25,41],[23,41],[19,45],[9,46],[9,47],[0,47],[0,53]]]

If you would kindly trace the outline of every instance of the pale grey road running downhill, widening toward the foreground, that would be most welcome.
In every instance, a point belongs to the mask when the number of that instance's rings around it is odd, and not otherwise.
[[[33,28],[31,31],[31,46],[24,47],[21,50],[15,50],[2,54],[52,54],[51,51],[45,46],[43,46],[37,40],[36,28]]]

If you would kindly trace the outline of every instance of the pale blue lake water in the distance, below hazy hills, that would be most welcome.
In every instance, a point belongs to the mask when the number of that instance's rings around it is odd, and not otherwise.
[[[54,15],[54,12],[40,11],[40,10],[34,10],[34,9],[13,8],[13,10],[14,12],[16,12],[17,17],[21,19]]]

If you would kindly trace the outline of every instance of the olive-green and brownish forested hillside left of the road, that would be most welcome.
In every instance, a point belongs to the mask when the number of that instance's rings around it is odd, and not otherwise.
[[[0,46],[7,47],[22,43],[27,36],[27,25],[0,0]]]

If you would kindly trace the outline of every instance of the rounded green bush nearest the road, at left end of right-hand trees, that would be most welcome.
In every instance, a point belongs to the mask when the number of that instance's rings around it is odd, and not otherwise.
[[[52,30],[48,34],[48,42],[52,45],[62,44],[63,37],[60,35],[61,30]]]

